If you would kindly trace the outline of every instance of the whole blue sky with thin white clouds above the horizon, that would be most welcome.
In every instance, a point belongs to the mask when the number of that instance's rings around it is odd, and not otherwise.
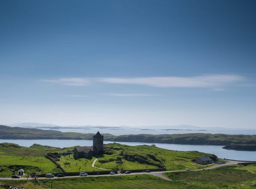
[[[256,128],[255,0],[1,0],[0,124]]]

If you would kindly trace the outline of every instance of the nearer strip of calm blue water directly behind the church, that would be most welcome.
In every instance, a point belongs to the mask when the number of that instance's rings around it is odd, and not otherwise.
[[[20,146],[31,146],[33,144],[54,146],[54,147],[71,147],[71,146],[92,146],[92,140],[24,140],[24,139],[0,139],[0,143],[8,142],[15,143]],[[104,141],[104,144],[113,143],[112,141]],[[143,142],[118,142],[120,144],[125,144],[129,146],[137,145],[151,145],[150,143]],[[178,150],[178,151],[199,151],[217,155],[220,158],[228,158],[235,160],[245,160],[245,161],[256,161],[256,151],[235,151],[223,149],[223,146],[206,146],[206,145],[174,145],[174,144],[157,144],[157,147],[165,148],[168,150]]]

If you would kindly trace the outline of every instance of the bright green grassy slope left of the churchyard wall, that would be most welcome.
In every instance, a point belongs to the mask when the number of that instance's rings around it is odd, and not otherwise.
[[[69,148],[33,145],[30,147],[17,144],[0,144],[0,177],[10,177],[12,172],[22,168],[28,172],[61,172],[55,164],[45,158],[46,153],[66,151]]]

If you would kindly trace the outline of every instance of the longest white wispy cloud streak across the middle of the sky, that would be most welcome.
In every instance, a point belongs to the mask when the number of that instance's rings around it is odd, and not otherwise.
[[[71,77],[43,81],[69,86],[87,86],[92,83],[110,83],[152,87],[221,88],[222,90],[225,86],[239,85],[245,80],[245,77],[239,75],[215,74],[197,77]]]

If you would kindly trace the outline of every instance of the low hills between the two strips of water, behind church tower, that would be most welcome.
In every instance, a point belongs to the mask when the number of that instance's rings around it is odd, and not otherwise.
[[[74,132],[60,132],[56,130],[27,129],[0,125],[1,139],[92,139],[94,134],[82,134]],[[104,140],[117,142],[146,142],[166,144],[190,144],[190,145],[256,145],[256,135],[225,135],[189,133],[174,135],[121,135],[114,136],[104,134]]]

